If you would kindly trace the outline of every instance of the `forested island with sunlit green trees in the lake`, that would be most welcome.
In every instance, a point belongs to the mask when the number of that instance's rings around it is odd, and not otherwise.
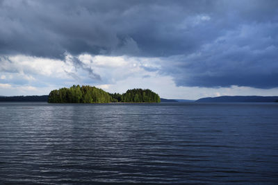
[[[97,87],[73,85],[50,92],[49,103],[160,103],[158,94],[149,89],[129,89],[124,94],[109,94]]]

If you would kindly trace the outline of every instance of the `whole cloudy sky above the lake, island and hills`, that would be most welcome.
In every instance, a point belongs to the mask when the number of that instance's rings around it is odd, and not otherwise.
[[[0,0],[0,96],[278,96],[278,1]]]

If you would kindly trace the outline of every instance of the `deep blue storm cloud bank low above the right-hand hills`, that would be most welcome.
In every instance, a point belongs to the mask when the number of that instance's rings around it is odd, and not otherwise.
[[[278,87],[278,46],[270,39],[275,30],[278,24],[240,26],[194,53],[165,58],[163,73],[179,86]]]

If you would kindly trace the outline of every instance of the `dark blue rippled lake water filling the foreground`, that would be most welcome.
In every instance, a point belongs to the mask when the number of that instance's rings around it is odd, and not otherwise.
[[[278,103],[0,103],[0,184],[278,183]]]

